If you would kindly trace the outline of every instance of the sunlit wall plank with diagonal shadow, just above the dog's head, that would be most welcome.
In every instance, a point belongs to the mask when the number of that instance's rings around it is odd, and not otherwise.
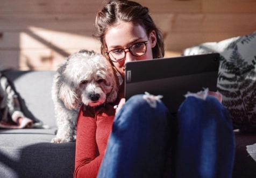
[[[25,32],[4,32],[0,49],[80,48],[99,50],[100,43],[90,33],[66,33],[42,28],[30,28]]]

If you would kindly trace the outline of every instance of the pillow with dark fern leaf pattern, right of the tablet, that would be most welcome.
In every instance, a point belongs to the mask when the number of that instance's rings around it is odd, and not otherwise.
[[[219,53],[218,91],[234,129],[256,131],[256,32],[187,48],[183,55]]]

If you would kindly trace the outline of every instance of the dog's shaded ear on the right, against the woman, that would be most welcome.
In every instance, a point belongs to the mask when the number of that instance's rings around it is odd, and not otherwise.
[[[118,77],[115,75],[115,72],[113,72],[112,75],[109,76],[108,81],[109,81],[109,86],[111,86],[112,89],[108,94],[106,102],[111,103],[116,101],[118,88],[119,88]]]

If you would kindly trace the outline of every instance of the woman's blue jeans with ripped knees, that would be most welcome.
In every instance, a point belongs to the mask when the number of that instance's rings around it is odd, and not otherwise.
[[[175,117],[156,97],[126,101],[98,177],[232,177],[232,121],[215,97],[205,96],[188,95]]]

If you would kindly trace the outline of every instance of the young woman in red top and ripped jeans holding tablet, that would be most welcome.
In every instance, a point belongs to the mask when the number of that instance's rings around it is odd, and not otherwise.
[[[120,81],[126,62],[164,55],[161,32],[148,9],[136,2],[106,3],[95,25],[101,52]],[[135,95],[125,102],[123,83],[116,103],[86,110],[82,106],[74,177],[231,177],[234,138],[229,112],[207,91],[201,94],[189,95],[176,117],[152,95]]]

